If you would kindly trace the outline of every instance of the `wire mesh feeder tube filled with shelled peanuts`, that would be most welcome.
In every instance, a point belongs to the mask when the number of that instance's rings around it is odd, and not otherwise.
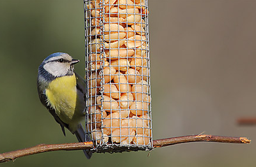
[[[147,0],[85,0],[84,17],[92,152],[151,150]]]

